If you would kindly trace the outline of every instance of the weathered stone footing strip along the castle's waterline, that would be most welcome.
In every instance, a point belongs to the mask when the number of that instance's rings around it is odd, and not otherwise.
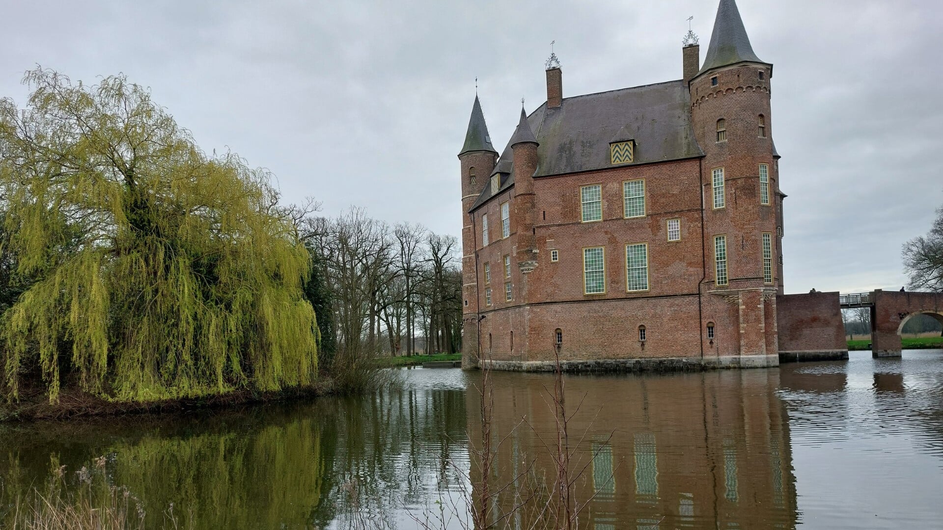
[[[491,370],[554,372],[553,361],[487,360]],[[479,363],[480,364],[480,363]],[[561,360],[564,372],[676,372],[714,368],[769,368],[779,366],[779,356],[690,356],[634,359]]]

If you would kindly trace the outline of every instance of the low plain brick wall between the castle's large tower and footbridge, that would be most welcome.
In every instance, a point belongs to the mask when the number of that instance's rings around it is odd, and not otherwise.
[[[848,351],[837,292],[776,296],[781,352]]]

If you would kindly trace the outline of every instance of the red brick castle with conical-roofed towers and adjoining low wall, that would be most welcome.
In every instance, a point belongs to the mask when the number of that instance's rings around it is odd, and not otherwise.
[[[735,0],[703,65],[696,39],[682,58],[680,80],[565,98],[552,56],[546,103],[521,109],[500,156],[475,96],[458,154],[463,366],[847,358],[837,295],[784,295],[772,64]]]

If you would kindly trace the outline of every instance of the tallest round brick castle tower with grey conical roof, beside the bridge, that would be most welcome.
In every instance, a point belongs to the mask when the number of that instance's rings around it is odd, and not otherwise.
[[[779,156],[771,137],[771,75],[772,64],[753,53],[735,0],[720,0],[707,55],[688,88],[695,135],[705,155],[702,291],[714,307],[705,319],[728,319],[740,334],[739,344],[728,340],[729,350],[721,354],[777,352],[781,195]]]

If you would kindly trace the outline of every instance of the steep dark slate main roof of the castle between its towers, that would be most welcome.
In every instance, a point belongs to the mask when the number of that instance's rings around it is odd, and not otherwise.
[[[609,143],[613,141],[636,142],[634,164],[702,157],[689,107],[690,95],[681,80],[570,97],[560,108],[544,104],[527,118],[539,144],[534,176],[612,167]],[[502,174],[499,193],[514,185],[511,145],[519,141],[515,138],[492,172]],[[486,185],[472,210],[490,197]]]

